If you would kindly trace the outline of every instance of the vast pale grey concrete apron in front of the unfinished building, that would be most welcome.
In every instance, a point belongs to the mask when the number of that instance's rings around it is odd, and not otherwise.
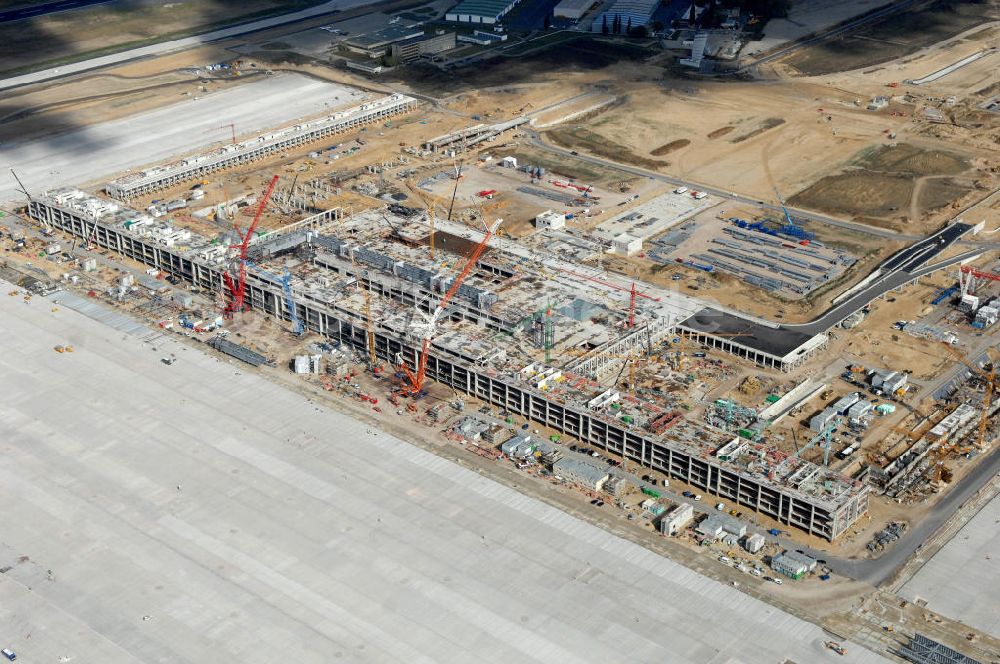
[[[3,297],[0,338],[24,661],[885,661],[159,331]]]

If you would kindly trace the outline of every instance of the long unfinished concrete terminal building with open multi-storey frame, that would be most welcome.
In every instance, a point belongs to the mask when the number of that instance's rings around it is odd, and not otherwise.
[[[220,290],[235,258],[224,238],[76,190],[49,192],[29,210],[202,288]],[[289,319],[271,276],[288,268],[309,330],[366,349],[370,328],[378,357],[415,366],[428,312],[482,238],[456,223],[436,227],[433,258],[423,213],[398,206],[349,218],[330,211],[256,238],[246,302]],[[630,288],[494,237],[438,323],[427,376],[821,537],[836,538],[867,511],[865,485],[686,417],[665,389],[677,380],[668,358],[677,324],[704,303],[639,284],[630,325]],[[643,381],[623,387],[637,371]]]

